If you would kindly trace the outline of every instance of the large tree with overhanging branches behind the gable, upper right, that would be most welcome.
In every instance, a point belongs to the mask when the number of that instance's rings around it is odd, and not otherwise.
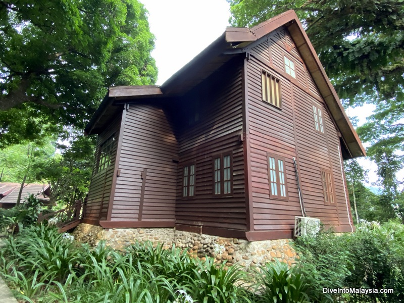
[[[397,172],[396,161],[382,159],[397,158],[397,150],[404,150],[404,2],[227,1],[232,14],[230,22],[241,27],[295,10],[343,98],[343,105],[376,105],[374,114],[357,131],[363,141],[371,143],[367,153],[378,163],[382,173],[379,176],[383,179],[383,175]],[[396,182],[390,178],[382,183],[391,187],[390,181]]]

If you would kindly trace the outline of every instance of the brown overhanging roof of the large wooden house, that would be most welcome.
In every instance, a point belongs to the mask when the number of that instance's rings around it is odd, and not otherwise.
[[[117,113],[112,105],[122,100],[148,97],[182,96],[198,83],[209,77],[234,56],[248,51],[255,41],[285,26],[302,59],[305,61],[320,94],[335,121],[344,145],[349,153],[347,158],[365,156],[358,134],[350,123],[338,95],[328,79],[323,66],[293,10],[269,19],[250,29],[228,27],[226,31],[199,55],[171,76],[162,86],[121,86],[111,87],[109,93],[85,128],[86,134],[102,130],[109,117]],[[103,119],[101,119],[103,118]],[[102,122],[100,122],[102,121]]]

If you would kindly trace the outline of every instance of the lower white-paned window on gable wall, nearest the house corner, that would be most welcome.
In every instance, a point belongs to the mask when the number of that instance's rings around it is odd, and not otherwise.
[[[286,199],[285,159],[268,154],[268,179],[271,198]]]

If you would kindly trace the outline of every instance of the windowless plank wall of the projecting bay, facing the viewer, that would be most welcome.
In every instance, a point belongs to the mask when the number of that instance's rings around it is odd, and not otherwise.
[[[163,110],[131,104],[126,113],[111,221],[174,222],[175,156],[178,143]]]

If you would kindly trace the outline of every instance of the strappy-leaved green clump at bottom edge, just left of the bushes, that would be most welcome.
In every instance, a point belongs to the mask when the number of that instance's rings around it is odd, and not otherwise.
[[[286,263],[276,259],[274,263],[267,263],[257,276],[257,286],[261,290],[258,302],[309,302],[306,294],[309,281],[297,267],[289,268]]]

